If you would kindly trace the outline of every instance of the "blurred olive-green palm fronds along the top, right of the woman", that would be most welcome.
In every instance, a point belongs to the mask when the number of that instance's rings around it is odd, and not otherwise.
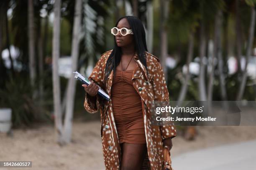
[[[195,32],[200,22],[213,25],[217,10],[223,10],[223,0],[172,0],[169,7],[169,43],[188,41],[189,34]]]

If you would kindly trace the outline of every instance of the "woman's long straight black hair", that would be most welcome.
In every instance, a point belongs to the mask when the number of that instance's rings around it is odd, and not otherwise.
[[[119,20],[116,22],[115,27],[117,27],[119,21],[123,18],[126,18],[128,20],[128,23],[131,26],[131,30],[133,30],[133,36],[134,36],[134,42],[135,42],[135,51],[137,52],[138,58],[141,61],[141,63],[146,67],[146,71],[148,74],[148,68],[146,65],[146,55],[145,51],[148,51],[147,45],[146,45],[146,33],[143,27],[143,24],[140,19],[134,16],[125,16],[122,18],[119,18]],[[116,67],[120,63],[122,50],[121,47],[118,47],[115,37],[114,37],[115,46],[108,57],[106,67],[105,67],[105,78],[104,83],[105,87],[107,83],[108,76],[110,75],[111,71],[114,69],[114,76],[116,72]]]

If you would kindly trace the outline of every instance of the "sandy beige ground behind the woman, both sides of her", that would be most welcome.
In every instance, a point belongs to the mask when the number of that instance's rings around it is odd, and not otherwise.
[[[173,139],[171,156],[192,150],[256,139],[256,126],[197,127],[194,141]],[[59,146],[52,125],[13,130],[13,137],[0,133],[0,161],[32,161],[32,168],[44,170],[103,170],[100,122],[74,122],[72,143]],[[0,170],[5,168],[0,168]],[[17,169],[17,168],[6,168]],[[19,168],[25,169],[25,168]]]

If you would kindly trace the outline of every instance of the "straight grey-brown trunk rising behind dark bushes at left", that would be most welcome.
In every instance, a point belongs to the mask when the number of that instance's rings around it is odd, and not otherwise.
[[[35,62],[35,34],[34,34],[34,5],[33,0],[28,0],[28,52],[29,52],[29,75],[31,85],[35,85],[36,62]],[[35,93],[33,93],[35,97]]]

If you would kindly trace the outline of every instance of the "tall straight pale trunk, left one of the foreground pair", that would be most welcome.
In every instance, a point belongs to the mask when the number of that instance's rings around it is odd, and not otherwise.
[[[61,19],[61,0],[54,2],[54,24],[53,24],[53,64],[52,64],[52,82],[54,95],[54,116],[56,137],[59,144],[64,144],[62,139],[62,113],[61,113],[61,94],[58,72],[58,60],[60,56],[60,19]]]

